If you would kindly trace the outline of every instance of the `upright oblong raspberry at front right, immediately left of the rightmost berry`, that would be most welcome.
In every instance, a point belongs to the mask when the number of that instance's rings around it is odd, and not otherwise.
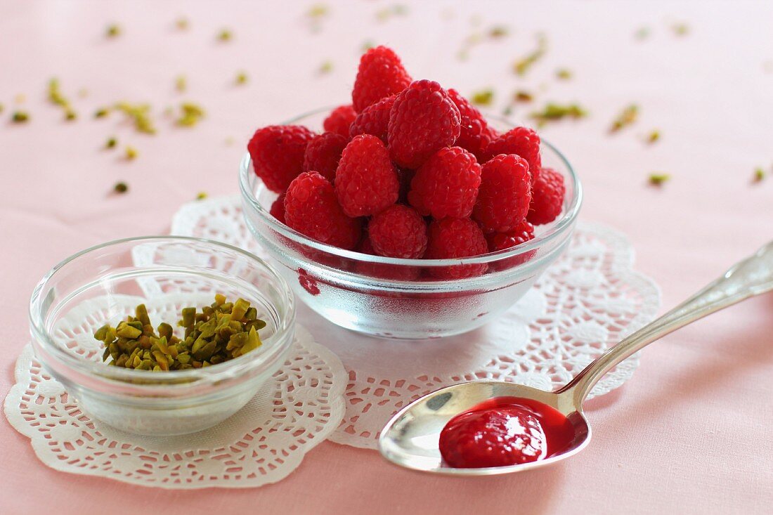
[[[484,232],[506,233],[526,218],[530,182],[529,164],[518,155],[500,154],[483,165],[472,217]]]

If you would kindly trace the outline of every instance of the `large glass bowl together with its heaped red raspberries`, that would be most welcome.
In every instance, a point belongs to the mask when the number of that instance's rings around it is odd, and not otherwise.
[[[259,128],[240,165],[247,227],[296,295],[386,338],[465,333],[523,297],[569,244],[571,165],[531,128],[362,57],[352,104]]]

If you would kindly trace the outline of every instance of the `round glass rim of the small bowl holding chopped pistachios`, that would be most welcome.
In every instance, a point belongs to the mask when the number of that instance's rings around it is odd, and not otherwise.
[[[259,349],[250,353],[243,354],[243,356],[239,356],[233,360],[217,363],[211,367],[202,367],[191,370],[174,370],[172,373],[163,374],[149,374],[147,370],[109,367],[100,361],[84,360],[79,356],[74,356],[71,353],[67,353],[59,345],[56,345],[56,343],[53,342],[53,339],[51,336],[49,336],[49,332],[44,328],[42,306],[40,305],[40,302],[43,299],[40,296],[40,292],[43,291],[43,288],[56,275],[56,273],[60,271],[60,269],[65,267],[67,264],[70,264],[72,261],[77,260],[79,257],[107,247],[127,243],[141,243],[144,241],[154,242],[163,240],[174,240],[182,243],[187,242],[205,244],[213,247],[213,250],[216,250],[217,247],[224,248],[228,251],[241,254],[243,257],[246,257],[247,260],[253,261],[254,264],[257,264],[258,267],[262,268],[264,271],[267,271],[267,273],[271,275],[271,278],[273,278],[274,281],[276,281],[281,287],[281,293],[285,298],[286,308],[288,311],[287,315],[279,321],[280,324],[277,326],[274,334],[269,336],[267,339],[262,340],[263,345]],[[180,268],[182,269],[185,267]],[[274,269],[274,267],[271,266],[271,264],[268,264],[266,261],[261,259],[261,257],[257,257],[255,254],[252,254],[249,251],[245,251],[239,247],[235,247],[233,245],[216,240],[209,240],[207,238],[188,236],[158,235],[126,237],[87,247],[82,251],[78,251],[77,253],[70,255],[70,257],[66,257],[59,263],[55,264],[48,272],[46,272],[46,275],[43,275],[43,278],[38,281],[38,284],[32,290],[32,295],[29,299],[29,325],[32,337],[35,338],[41,346],[43,346],[43,349],[46,350],[47,353],[52,353],[53,351],[52,356],[55,359],[59,360],[68,367],[72,367],[80,373],[86,373],[90,377],[99,377],[100,379],[105,380],[118,380],[121,382],[131,382],[133,380],[143,379],[147,382],[147,384],[131,384],[132,387],[138,388],[158,387],[159,384],[166,384],[167,382],[169,382],[169,387],[190,387],[197,383],[196,379],[217,381],[226,379],[227,377],[238,377],[240,373],[244,371],[255,367],[269,366],[275,360],[278,360],[278,358],[284,353],[284,350],[286,350],[292,343],[292,339],[287,338],[286,336],[288,333],[291,333],[295,329],[295,294],[292,292],[288,282],[284,280],[284,278],[278,273],[278,271]],[[282,342],[283,339],[284,342],[282,344],[271,345],[271,343]],[[181,379],[189,379],[194,381],[184,382],[181,381]]]

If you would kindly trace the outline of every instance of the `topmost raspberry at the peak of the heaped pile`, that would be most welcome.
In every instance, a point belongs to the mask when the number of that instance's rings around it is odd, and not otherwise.
[[[369,49],[359,59],[359,70],[352,90],[354,110],[362,112],[383,97],[400,93],[410,84],[410,75],[400,57],[386,46]]]

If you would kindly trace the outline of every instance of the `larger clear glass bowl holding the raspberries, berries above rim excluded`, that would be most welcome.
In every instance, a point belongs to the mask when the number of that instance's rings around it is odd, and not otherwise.
[[[287,123],[320,130],[328,113],[323,109]],[[513,127],[499,118],[489,122],[500,131]],[[450,336],[482,326],[509,309],[569,244],[581,205],[580,182],[567,159],[544,140],[542,161],[564,176],[563,212],[552,223],[537,226],[536,237],[526,244],[476,257],[380,257],[311,240],[271,216],[277,195],[257,178],[249,154],[239,172],[243,215],[296,295],[329,321],[386,338]],[[471,265],[487,272],[450,281],[432,278],[432,268]]]

